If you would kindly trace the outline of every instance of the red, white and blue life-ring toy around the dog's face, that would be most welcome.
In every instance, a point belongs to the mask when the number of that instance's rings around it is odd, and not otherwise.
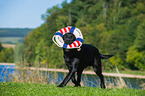
[[[63,35],[66,33],[72,33],[76,37],[76,40],[72,44],[64,43]],[[63,47],[67,49],[80,48],[84,42],[81,31],[76,27],[70,26],[62,28],[59,31],[57,31],[53,36],[52,40],[58,47]]]

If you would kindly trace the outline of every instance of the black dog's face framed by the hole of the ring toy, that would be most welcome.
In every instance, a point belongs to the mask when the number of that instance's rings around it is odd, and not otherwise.
[[[63,40],[65,44],[72,44],[75,41],[76,37],[72,33],[66,33],[63,35]]]

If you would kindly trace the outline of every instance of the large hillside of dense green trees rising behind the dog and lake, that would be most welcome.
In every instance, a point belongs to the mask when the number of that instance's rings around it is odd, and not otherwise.
[[[79,28],[84,43],[97,47],[102,54],[113,54],[103,60],[105,70],[145,70],[145,0],[72,0],[54,6],[42,15],[45,23],[25,39],[25,59],[31,66],[64,68],[62,48],[52,36],[66,26]]]

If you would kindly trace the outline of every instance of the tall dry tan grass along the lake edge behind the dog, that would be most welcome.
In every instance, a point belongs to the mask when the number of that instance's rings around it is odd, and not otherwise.
[[[58,80],[58,74],[57,72],[50,72],[50,71],[43,71],[40,70],[40,63],[35,62],[35,66],[33,69],[32,67],[27,67],[27,62],[20,62],[17,64],[16,72],[14,75],[10,75],[9,79],[13,82],[21,82],[21,83],[36,83],[36,84],[59,84],[62,82],[63,78],[66,76],[67,73],[64,73],[65,75],[61,80]],[[46,66],[47,64],[45,64]],[[44,67],[44,66],[43,66]],[[47,68],[47,66],[46,66]],[[116,68],[118,75],[120,74],[119,70]],[[5,70],[5,74],[7,74],[7,70]],[[88,75],[83,75],[83,80],[81,82],[82,86],[88,86],[86,85],[89,83],[89,86],[97,86],[99,87],[99,80],[97,81],[96,78],[98,78],[96,75],[93,75],[93,79],[96,80],[97,83],[94,83],[93,81],[89,80]],[[111,88],[132,88],[131,82],[128,80],[128,84],[126,85],[124,79],[122,77],[114,77],[114,82],[111,82],[112,77],[105,77],[105,83],[107,89]],[[4,78],[6,81],[8,81],[7,78]],[[72,82],[69,82],[67,85],[73,86]],[[129,86],[130,85],[130,86]],[[129,86],[129,87],[128,87]],[[140,82],[140,87],[142,87],[143,90],[145,90],[145,83]]]

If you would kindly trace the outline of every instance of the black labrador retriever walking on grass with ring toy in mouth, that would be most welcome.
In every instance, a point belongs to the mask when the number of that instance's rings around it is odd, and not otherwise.
[[[63,40],[66,44],[72,44],[75,39],[72,33],[66,33],[63,36]],[[93,66],[95,73],[101,80],[101,88],[105,88],[101,59],[108,59],[113,55],[102,55],[96,47],[89,44],[82,44],[80,49],[63,48],[63,52],[65,64],[69,69],[69,73],[58,87],[64,87],[70,79],[76,87],[81,86],[80,82],[83,70],[87,66]],[[75,73],[77,73],[77,79],[75,78]]]

